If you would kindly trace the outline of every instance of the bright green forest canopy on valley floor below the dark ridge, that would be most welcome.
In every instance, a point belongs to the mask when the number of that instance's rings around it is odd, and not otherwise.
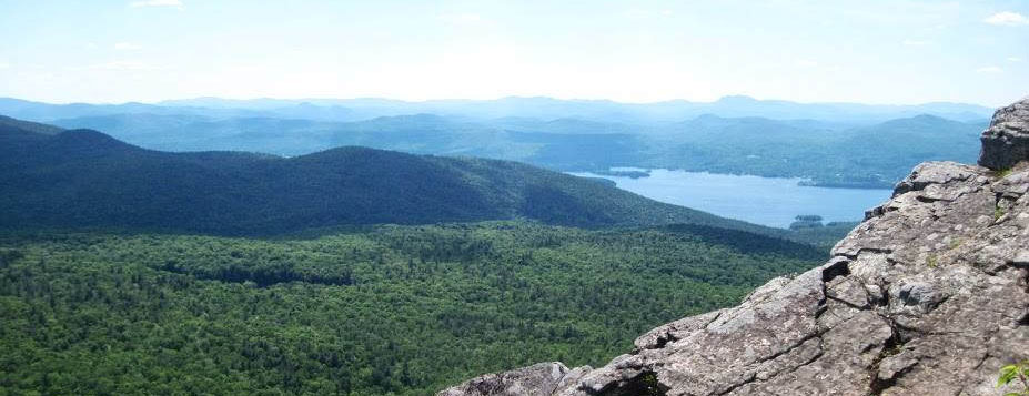
[[[0,236],[0,395],[426,395],[602,365],[824,248],[703,225]]]

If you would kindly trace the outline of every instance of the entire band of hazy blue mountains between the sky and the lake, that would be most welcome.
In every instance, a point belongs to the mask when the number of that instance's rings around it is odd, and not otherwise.
[[[665,167],[890,187],[924,161],[971,162],[990,109],[728,97],[627,104],[494,101],[226,100],[47,104],[0,99],[0,114],[93,129],[145,149],[297,156],[341,145],[527,162],[556,171]]]

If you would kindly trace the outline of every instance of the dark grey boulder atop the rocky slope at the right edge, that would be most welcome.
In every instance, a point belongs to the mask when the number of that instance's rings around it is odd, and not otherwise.
[[[980,140],[979,165],[1006,170],[1029,160],[1029,98],[997,110]]]

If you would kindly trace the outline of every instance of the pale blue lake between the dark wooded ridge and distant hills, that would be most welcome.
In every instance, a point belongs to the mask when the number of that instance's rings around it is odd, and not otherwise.
[[[891,190],[827,189],[801,186],[801,179],[761,177],[707,172],[640,170],[616,167],[612,171],[648,171],[649,177],[599,175],[588,172],[577,176],[603,177],[623,190],[652,200],[710,212],[724,217],[775,227],[787,227],[798,214],[817,214],[826,222],[859,221]]]

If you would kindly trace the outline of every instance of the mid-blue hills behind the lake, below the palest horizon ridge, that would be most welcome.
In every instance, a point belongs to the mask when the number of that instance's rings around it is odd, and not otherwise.
[[[233,150],[303,155],[340,145],[474,155],[558,171],[612,166],[809,177],[819,185],[889,187],[922,161],[970,162],[986,121],[917,115],[860,126],[815,120],[702,115],[663,125],[432,114],[356,122],[276,118],[115,114],[63,119],[167,151]]]

